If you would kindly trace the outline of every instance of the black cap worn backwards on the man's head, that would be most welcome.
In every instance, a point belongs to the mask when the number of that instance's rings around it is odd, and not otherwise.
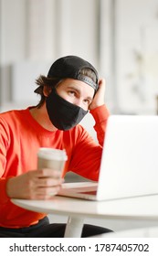
[[[80,74],[81,69],[91,69],[96,75],[96,81],[94,82],[88,76]],[[98,72],[90,64],[90,62],[81,59],[77,56],[66,56],[60,59],[57,59],[52,66],[50,67],[48,73],[48,78],[58,78],[58,79],[74,79],[81,80],[89,84],[94,91],[98,90]]]

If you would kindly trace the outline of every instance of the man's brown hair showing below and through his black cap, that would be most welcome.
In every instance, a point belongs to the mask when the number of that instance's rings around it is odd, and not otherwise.
[[[94,73],[94,71],[92,69],[88,69],[88,68],[83,68],[79,71],[79,73],[81,75],[87,76],[89,77],[91,80],[93,80],[94,82],[96,81],[96,74]],[[59,81],[64,80],[64,79],[58,79],[58,78],[47,78],[43,75],[40,75],[37,80],[36,80],[36,84],[38,85],[37,89],[34,91],[37,94],[40,95],[41,99],[37,104],[37,108],[40,108],[43,103],[46,101],[46,97],[43,93],[43,89],[44,86],[47,87],[47,90],[51,89],[51,88],[55,88]]]

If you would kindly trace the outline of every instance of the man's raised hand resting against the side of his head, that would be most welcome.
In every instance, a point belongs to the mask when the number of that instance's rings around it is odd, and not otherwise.
[[[105,103],[105,80],[99,80],[99,89],[96,92],[93,101],[90,104],[89,110],[93,110]]]

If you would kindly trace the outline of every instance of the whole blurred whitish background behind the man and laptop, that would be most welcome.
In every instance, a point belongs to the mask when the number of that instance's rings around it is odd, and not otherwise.
[[[106,79],[111,113],[157,114],[158,0],[0,0],[0,112],[36,104],[37,76],[71,54]]]

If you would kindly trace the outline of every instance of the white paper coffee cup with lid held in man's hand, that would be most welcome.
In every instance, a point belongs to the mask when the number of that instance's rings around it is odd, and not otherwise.
[[[65,150],[40,147],[37,153],[37,168],[49,168],[62,173],[67,159]]]

